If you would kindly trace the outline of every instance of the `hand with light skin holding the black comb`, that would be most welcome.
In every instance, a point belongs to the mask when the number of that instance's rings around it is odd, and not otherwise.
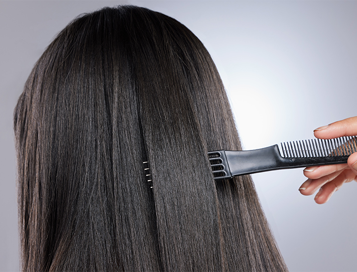
[[[357,116],[317,128],[314,130],[314,135],[320,139],[356,136]],[[303,174],[308,179],[301,184],[300,193],[311,195],[319,190],[315,202],[326,203],[345,182],[357,181],[357,152],[348,158],[347,164],[311,166],[305,168]]]

